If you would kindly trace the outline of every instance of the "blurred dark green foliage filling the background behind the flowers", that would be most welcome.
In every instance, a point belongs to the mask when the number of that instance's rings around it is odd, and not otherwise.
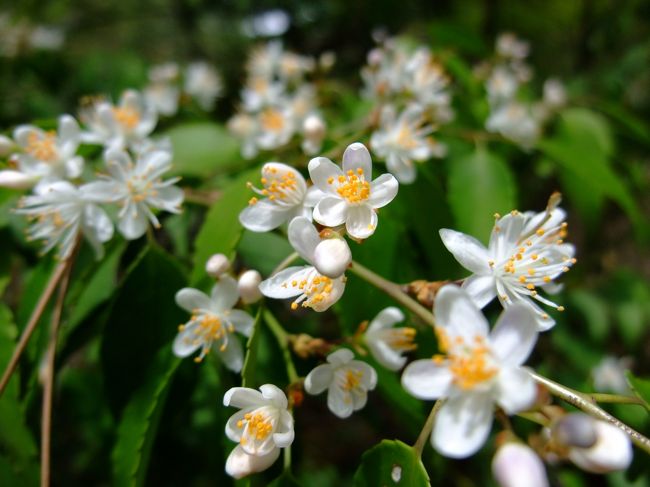
[[[57,359],[54,485],[231,483],[223,471],[231,448],[223,425],[232,411],[221,400],[240,380],[216,361],[179,363],[169,342],[185,319],[174,293],[188,283],[209,288],[202,274],[208,255],[237,251],[242,267],[266,274],[290,250],[277,235],[242,234],[236,224],[250,197],[241,189],[243,182],[257,178],[257,163],[283,159],[262,154],[252,163],[244,161],[223,129],[238,104],[243,61],[263,40],[247,35],[242,25],[270,8],[290,16],[283,36],[287,48],[315,56],[336,53],[322,87],[331,127],[367,112],[359,97],[359,69],[374,45],[373,31],[407,34],[439,53],[453,79],[457,118],[452,127],[472,130],[482,128],[477,114],[485,115],[472,67],[489,57],[500,32],[529,40],[533,88],[539,93],[545,78],[558,77],[573,108],[528,152],[503,142],[475,150],[442,131],[449,156],[427,163],[414,185],[400,188],[395,202],[382,210],[377,233],[354,246],[353,255],[397,282],[460,278],[464,271],[442,246],[439,228],[476,232],[485,240],[492,213],[510,205],[541,211],[549,194],[560,189],[578,264],[565,276],[559,298],[567,311],[556,316],[558,325],[542,337],[529,363],[583,391],[593,390],[592,370],[605,355],[633,357],[635,374],[650,376],[649,2],[5,0],[0,11],[12,22],[54,25],[65,35],[59,50],[0,57],[0,127],[7,134],[20,123],[47,124],[60,113],[74,113],[83,96],[116,98],[126,88],[142,87],[156,63],[205,59],[218,67],[226,86],[213,113],[185,109],[178,117],[183,124],[159,123],[159,131],[172,138],[184,184],[219,191],[218,202],[207,211],[188,204],[183,215],[166,218],[156,244],[112,242],[100,263],[88,249],[79,256]],[[328,143],[334,147],[340,141]],[[307,160],[292,162],[304,167]],[[490,176],[487,183],[476,177],[478,170]],[[9,214],[16,198],[16,192],[0,192],[0,363],[8,360],[53,268],[24,241],[24,223]],[[290,314],[285,303],[268,306],[290,332],[336,338],[354,334],[361,321],[389,304],[351,278],[344,298],[324,317]],[[494,318],[498,309],[488,311]],[[424,327],[420,331],[418,353],[433,353],[433,334]],[[257,334],[258,367],[249,385],[282,387],[286,377],[274,337],[265,327]],[[0,401],[0,485],[37,481],[37,371],[46,339],[47,327],[41,326]],[[299,361],[298,372],[305,375],[316,363]],[[378,391],[351,419],[332,416],[322,397],[307,397],[297,410],[294,470],[302,485],[351,485],[364,451],[384,438],[412,443],[417,437],[427,405],[406,395],[398,376],[377,370]],[[611,409],[648,432],[641,408]],[[517,420],[515,426],[522,436],[533,431]],[[425,450],[432,483],[439,485],[491,485],[490,458],[490,448],[465,461],[446,461]],[[635,462],[627,474],[596,477],[560,465],[550,468],[549,476],[553,485],[568,487],[648,485],[650,476],[642,472],[647,458],[637,452]],[[252,485],[265,485],[279,473],[275,465]]]

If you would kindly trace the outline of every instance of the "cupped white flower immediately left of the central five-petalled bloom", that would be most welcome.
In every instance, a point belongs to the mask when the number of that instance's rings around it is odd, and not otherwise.
[[[264,198],[253,197],[239,215],[239,222],[253,232],[268,232],[291,221],[296,216],[311,217],[311,208],[318,199],[316,188],[307,183],[298,171],[280,162],[262,166],[263,189],[249,187]]]

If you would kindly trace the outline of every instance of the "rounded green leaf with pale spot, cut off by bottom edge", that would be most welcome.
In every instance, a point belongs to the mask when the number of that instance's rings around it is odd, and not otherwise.
[[[417,452],[398,440],[382,440],[361,458],[354,474],[355,487],[430,485],[429,475]]]

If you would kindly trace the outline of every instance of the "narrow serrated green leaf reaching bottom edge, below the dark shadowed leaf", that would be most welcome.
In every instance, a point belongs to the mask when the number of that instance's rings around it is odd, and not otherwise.
[[[124,408],[112,454],[114,485],[144,485],[151,447],[179,364],[170,350],[161,350]]]

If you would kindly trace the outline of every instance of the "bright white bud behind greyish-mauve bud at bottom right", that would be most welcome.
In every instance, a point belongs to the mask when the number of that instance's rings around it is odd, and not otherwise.
[[[591,448],[571,448],[569,458],[587,472],[625,470],[632,462],[630,438],[616,426],[594,420],[597,440]]]

